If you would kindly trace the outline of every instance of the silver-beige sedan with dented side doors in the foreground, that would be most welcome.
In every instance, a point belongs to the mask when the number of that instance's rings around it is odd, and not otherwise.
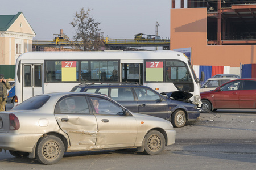
[[[56,164],[72,151],[138,148],[156,155],[175,138],[169,121],[132,113],[98,94],[43,94],[0,112],[0,151],[42,164]]]

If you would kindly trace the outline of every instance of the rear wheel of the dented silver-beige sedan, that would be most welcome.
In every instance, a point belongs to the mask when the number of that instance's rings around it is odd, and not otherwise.
[[[63,158],[64,143],[60,138],[49,135],[40,138],[36,145],[36,159],[42,164],[52,165]]]

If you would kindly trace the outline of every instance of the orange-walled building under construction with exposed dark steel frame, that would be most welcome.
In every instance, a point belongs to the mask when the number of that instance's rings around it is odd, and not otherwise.
[[[194,65],[256,62],[256,1],[172,0],[171,50],[191,48]]]

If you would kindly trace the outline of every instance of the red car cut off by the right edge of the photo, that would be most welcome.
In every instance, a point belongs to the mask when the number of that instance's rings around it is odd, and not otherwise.
[[[256,79],[236,79],[213,91],[201,92],[202,113],[217,109],[255,109]]]

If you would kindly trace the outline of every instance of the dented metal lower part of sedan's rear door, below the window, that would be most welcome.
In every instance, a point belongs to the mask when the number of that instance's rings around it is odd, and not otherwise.
[[[68,134],[71,146],[96,144],[97,121],[93,114],[55,114],[55,117]]]

